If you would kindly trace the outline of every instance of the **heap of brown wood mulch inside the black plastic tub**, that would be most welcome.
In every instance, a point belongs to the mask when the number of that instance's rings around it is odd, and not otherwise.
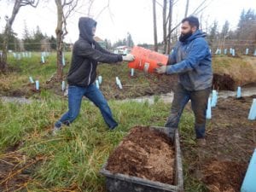
[[[172,141],[160,131],[133,127],[108,158],[106,169],[151,181],[173,184],[175,150]]]

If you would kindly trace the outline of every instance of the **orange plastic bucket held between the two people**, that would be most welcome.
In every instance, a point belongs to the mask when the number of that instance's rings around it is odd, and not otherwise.
[[[143,47],[133,47],[131,54],[135,56],[135,60],[129,62],[128,67],[143,70],[146,73],[154,73],[154,69],[159,67],[157,63],[166,65],[168,62],[167,55],[162,55]]]

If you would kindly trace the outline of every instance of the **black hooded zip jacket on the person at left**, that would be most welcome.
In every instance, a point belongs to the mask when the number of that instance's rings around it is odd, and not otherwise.
[[[93,39],[92,28],[96,21],[88,17],[79,19],[79,40],[73,45],[71,67],[67,74],[67,83],[86,87],[96,79],[97,62],[113,63],[123,61],[121,55],[116,55],[102,49]]]

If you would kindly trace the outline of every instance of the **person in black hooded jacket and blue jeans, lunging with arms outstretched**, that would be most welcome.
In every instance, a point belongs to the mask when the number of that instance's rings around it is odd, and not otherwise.
[[[61,130],[61,125],[69,125],[79,115],[83,96],[86,96],[101,110],[102,117],[113,130],[118,123],[113,119],[108,102],[101,90],[94,84],[98,61],[116,63],[118,61],[133,61],[131,54],[122,56],[108,52],[96,43],[94,35],[96,21],[88,17],[79,18],[79,40],[73,46],[71,67],[67,74],[68,83],[68,111],[56,123],[53,133]]]

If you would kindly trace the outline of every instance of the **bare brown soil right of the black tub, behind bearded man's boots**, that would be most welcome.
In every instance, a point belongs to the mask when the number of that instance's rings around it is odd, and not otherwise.
[[[239,192],[256,147],[256,121],[248,120],[256,96],[219,99],[207,125],[207,146],[182,142],[183,161],[191,177],[212,192]],[[183,139],[182,139],[183,140]]]

